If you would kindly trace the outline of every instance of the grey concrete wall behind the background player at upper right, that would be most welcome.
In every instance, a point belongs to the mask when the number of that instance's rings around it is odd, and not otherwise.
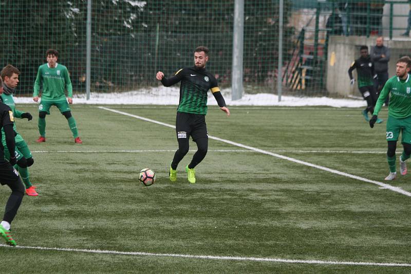
[[[370,50],[371,46],[375,46],[375,40],[375,36],[330,36],[327,58],[327,90],[330,94],[343,97],[361,96],[357,83],[354,87],[350,86],[348,68],[360,57],[360,46],[366,45]],[[411,38],[385,38],[384,46],[390,49],[388,76],[391,77],[395,75],[398,58],[403,55],[411,56]],[[357,79],[356,70],[353,75]]]

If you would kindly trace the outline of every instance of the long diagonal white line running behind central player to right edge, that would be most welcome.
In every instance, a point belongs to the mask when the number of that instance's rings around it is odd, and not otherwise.
[[[119,114],[122,114],[122,115],[130,116],[130,117],[133,117],[133,118],[137,118],[137,119],[140,119],[140,120],[143,120],[143,121],[146,121],[146,122],[151,122],[151,123],[155,123],[155,124],[158,124],[158,125],[175,128],[175,126],[173,126],[173,125],[162,123],[162,122],[152,120],[152,119],[148,119],[148,118],[145,118],[145,117],[142,117],[142,116],[130,114],[130,113],[127,113],[127,112],[118,111],[118,110],[107,108],[107,107],[99,107],[99,108],[104,109],[104,110],[108,110],[108,111],[111,111],[111,112],[119,113]],[[323,166],[320,166],[320,165],[311,164],[311,163],[301,161],[301,160],[297,160],[297,159],[294,159],[294,158],[291,158],[291,157],[288,157],[288,156],[284,156],[284,155],[281,155],[281,154],[269,152],[269,151],[259,149],[259,148],[255,148],[255,147],[246,146],[246,145],[243,145],[243,144],[240,144],[240,143],[236,143],[236,142],[226,140],[226,139],[221,139],[221,138],[214,137],[214,136],[211,136],[211,135],[209,135],[209,139],[213,139],[213,140],[216,140],[216,141],[227,143],[227,144],[230,144],[230,145],[233,145],[233,146],[236,146],[236,147],[242,147],[242,148],[245,148],[245,149],[253,150],[253,151],[256,151],[256,152],[260,152],[262,154],[271,155],[271,156],[274,156],[276,158],[283,159],[283,160],[288,160],[290,162],[294,162],[294,163],[297,163],[297,164],[302,164],[302,165],[305,165],[305,166],[310,166],[310,167],[313,167],[313,168],[321,169],[321,170],[328,171],[328,172],[331,172],[331,173],[334,173],[334,174],[339,174],[339,175],[342,175],[344,177],[348,177],[348,178],[351,178],[351,179],[355,179],[355,180],[359,180],[359,181],[379,185],[379,186],[383,187],[384,189],[389,189],[389,190],[392,190],[392,191],[395,191],[395,192],[398,192],[398,193],[401,193],[401,194],[404,194],[406,196],[411,197],[410,192],[405,191],[400,187],[395,187],[395,186],[391,186],[389,184],[384,184],[384,183],[381,183],[381,182],[378,182],[378,181],[369,180],[367,178],[363,178],[363,177],[360,177],[360,176],[357,176],[357,175],[352,175],[352,174],[342,172],[342,171],[339,171],[339,170],[335,170],[335,169],[331,169],[331,168],[328,168],[328,167],[323,167]]]

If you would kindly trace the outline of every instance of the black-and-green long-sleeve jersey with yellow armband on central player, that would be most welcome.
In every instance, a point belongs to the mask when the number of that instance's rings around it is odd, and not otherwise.
[[[221,95],[217,80],[204,68],[182,68],[170,78],[163,77],[161,83],[170,87],[181,81],[178,112],[207,114],[207,92],[210,89],[219,107],[225,107],[226,102]]]

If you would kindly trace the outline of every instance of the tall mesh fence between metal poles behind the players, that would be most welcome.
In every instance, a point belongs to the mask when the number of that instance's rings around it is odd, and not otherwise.
[[[234,2],[93,0],[91,91],[157,86],[156,71],[170,75],[193,65],[193,50],[199,45],[210,48],[208,69],[222,88],[229,88]],[[283,93],[327,94],[329,35],[406,31],[408,11],[398,15],[393,10],[408,7],[408,2],[387,3],[284,0]],[[245,93],[277,93],[278,17],[279,0],[244,1]],[[391,21],[389,27],[384,27],[384,18]],[[393,18],[404,23],[396,29]],[[32,94],[37,69],[45,63],[49,48],[60,52],[58,63],[68,68],[74,93],[85,92],[87,0],[2,0],[0,24],[0,64],[12,64],[22,72],[17,95]]]

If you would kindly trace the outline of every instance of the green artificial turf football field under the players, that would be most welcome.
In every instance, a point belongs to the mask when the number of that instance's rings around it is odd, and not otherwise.
[[[358,108],[210,107],[209,151],[190,184],[193,142],[168,179],[175,106],[104,108],[72,106],[77,145],[57,108],[35,143],[36,105],[17,106],[34,116],[17,131],[39,197],[23,199],[2,272],[411,271],[411,173],[384,181],[385,121],[370,129]],[[150,187],[137,179],[146,167]],[[0,188],[2,207],[9,193]]]

